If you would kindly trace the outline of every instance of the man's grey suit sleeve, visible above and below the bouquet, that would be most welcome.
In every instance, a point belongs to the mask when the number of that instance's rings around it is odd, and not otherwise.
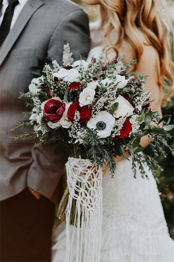
[[[79,54],[83,59],[87,58],[90,48],[90,36],[88,17],[82,10],[72,12],[57,25],[49,41],[48,61],[53,58],[59,64],[62,63],[64,41],[69,42],[75,60],[79,59]],[[56,151],[52,151],[52,146],[48,145],[33,148],[33,163],[28,171],[27,186],[47,198],[53,199],[52,195],[54,195],[55,191],[57,192],[56,188],[63,174],[67,157],[67,153],[60,145],[58,145]],[[46,186],[45,183],[42,183],[43,180],[46,181]],[[53,201],[56,203],[55,198]]]

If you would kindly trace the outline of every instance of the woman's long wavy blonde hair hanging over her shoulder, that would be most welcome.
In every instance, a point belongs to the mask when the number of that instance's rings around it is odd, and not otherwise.
[[[153,46],[158,52],[158,81],[159,86],[168,89],[163,101],[172,93],[173,63],[171,59],[171,46],[169,30],[159,14],[157,0],[101,0],[102,23],[105,24],[105,38],[109,49],[113,49],[118,57],[117,47],[123,37],[131,44],[137,62],[143,53],[143,39],[146,44]],[[113,43],[110,34],[113,29],[118,33],[118,40]],[[150,63],[150,61],[149,61]],[[168,84],[170,82],[170,84]]]

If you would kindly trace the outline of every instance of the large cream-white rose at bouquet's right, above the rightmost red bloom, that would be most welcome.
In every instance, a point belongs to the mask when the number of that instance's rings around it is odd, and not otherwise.
[[[126,100],[122,95],[119,95],[114,101],[113,104],[116,102],[119,103],[119,106],[117,110],[113,113],[114,117],[129,117],[133,114],[134,108],[133,106],[129,103],[128,100]]]

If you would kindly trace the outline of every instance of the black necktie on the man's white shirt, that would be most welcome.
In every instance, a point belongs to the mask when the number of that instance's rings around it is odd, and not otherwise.
[[[0,46],[2,45],[10,31],[10,24],[13,18],[14,8],[18,3],[18,0],[8,0],[8,7],[5,10],[0,27]]]

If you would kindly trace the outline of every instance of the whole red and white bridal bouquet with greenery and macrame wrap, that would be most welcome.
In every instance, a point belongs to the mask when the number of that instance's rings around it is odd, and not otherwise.
[[[124,156],[128,150],[136,175],[137,164],[146,176],[140,152],[142,136],[149,136],[155,156],[166,155],[172,128],[170,116],[160,119],[150,109],[151,91],[144,92],[147,76],[129,73],[136,61],[124,64],[124,57],[104,62],[103,50],[91,63],[73,61],[69,44],[64,45],[63,66],[52,61],[53,70],[45,64],[42,76],[34,78],[29,92],[21,93],[31,110],[29,121],[17,127],[31,125],[31,133],[16,139],[36,138],[41,143],[62,144],[69,152],[66,163],[67,189],[58,208],[58,217],[67,220],[77,230],[85,230],[84,261],[98,261],[101,239],[102,167],[110,167],[114,176],[114,157]],[[161,122],[165,126],[158,126]],[[153,123],[153,124],[152,124]],[[159,168],[155,158],[148,157],[152,171]],[[155,166],[155,168],[154,168]],[[115,174],[116,175],[116,174]],[[80,231],[78,231],[80,232]],[[77,239],[77,261],[81,261],[82,241]],[[67,235],[67,254],[70,239]],[[86,260],[85,260],[86,258]],[[69,255],[66,261],[70,261]]]

